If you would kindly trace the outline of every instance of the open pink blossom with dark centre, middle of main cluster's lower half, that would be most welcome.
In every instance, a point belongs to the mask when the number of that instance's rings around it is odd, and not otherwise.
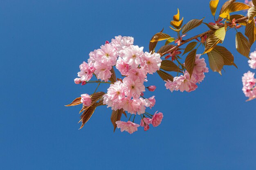
[[[127,97],[138,98],[140,93],[145,91],[145,86],[139,79],[133,80],[130,77],[125,77],[123,82],[126,86],[125,94]]]

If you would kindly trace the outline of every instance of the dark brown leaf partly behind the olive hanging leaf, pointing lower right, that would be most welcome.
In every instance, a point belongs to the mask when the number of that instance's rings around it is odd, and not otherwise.
[[[216,46],[213,51],[215,51],[216,53],[219,53],[219,55],[221,55],[223,57],[224,60],[224,65],[234,65],[236,68],[236,64],[234,63],[234,56],[223,46]]]

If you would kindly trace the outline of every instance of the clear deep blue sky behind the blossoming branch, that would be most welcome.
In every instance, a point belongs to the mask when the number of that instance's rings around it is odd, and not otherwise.
[[[176,36],[168,26],[177,7],[184,22],[213,21],[208,0],[1,0],[0,169],[255,170],[256,101],[245,102],[241,91],[251,69],[236,51],[235,31],[223,44],[239,69],[209,71],[191,93],[171,93],[158,75],[148,77],[146,85],[157,86],[145,93],[156,95],[149,112],[164,113],[157,128],[113,133],[111,110],[101,106],[78,130],[81,106],[64,106],[96,87],[73,82],[90,51],[117,35],[148,51],[163,27]],[[207,30],[201,25],[185,39]]]

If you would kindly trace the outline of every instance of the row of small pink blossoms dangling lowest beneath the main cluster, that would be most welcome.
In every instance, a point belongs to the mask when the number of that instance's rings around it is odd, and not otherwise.
[[[140,121],[140,125],[139,124],[135,124],[131,121],[116,121],[117,124],[117,128],[121,129],[121,132],[128,132],[130,134],[132,134],[133,132],[138,130],[139,126],[144,127],[144,130],[147,131],[149,129],[149,124],[152,124],[153,127],[157,127],[159,126],[159,124],[161,124],[162,119],[163,119],[163,113],[157,113],[155,112],[155,114],[152,116],[152,118],[148,118],[148,117],[143,117],[143,119],[141,119]]]

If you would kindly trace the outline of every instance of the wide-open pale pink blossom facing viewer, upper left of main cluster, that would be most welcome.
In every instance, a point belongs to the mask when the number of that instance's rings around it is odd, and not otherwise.
[[[116,49],[110,44],[105,44],[101,46],[101,49],[97,50],[98,63],[102,63],[108,66],[114,66],[117,62],[117,52]]]

